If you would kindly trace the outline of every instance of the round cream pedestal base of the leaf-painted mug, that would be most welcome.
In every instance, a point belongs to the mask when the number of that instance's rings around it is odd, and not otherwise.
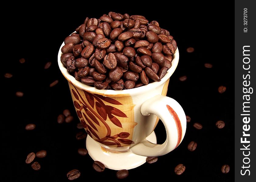
[[[153,131],[146,138],[151,143],[157,143],[156,134]],[[122,170],[122,169],[133,169],[139,167],[146,162],[145,156],[136,155],[130,151],[124,153],[112,153],[104,150],[99,143],[95,142],[90,136],[86,138],[86,148],[89,155],[95,161],[100,161],[105,165],[105,167],[112,170]]]

